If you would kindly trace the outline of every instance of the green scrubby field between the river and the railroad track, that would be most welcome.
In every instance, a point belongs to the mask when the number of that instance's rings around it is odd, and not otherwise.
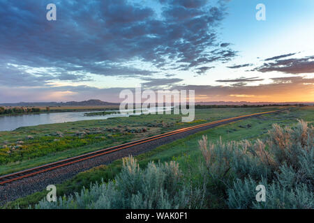
[[[182,123],[180,115],[141,115],[0,132],[0,175],[190,125],[275,109],[279,108],[196,109],[190,123]]]

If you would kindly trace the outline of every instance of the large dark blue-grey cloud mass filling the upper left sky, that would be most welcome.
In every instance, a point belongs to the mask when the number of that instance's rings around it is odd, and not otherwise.
[[[0,66],[53,69],[55,73],[37,76],[20,70],[24,85],[42,85],[52,79],[87,80],[80,76],[85,73],[154,74],[126,65],[132,60],[156,68],[178,63],[180,69],[194,70],[236,55],[225,48],[227,43],[218,44],[215,31],[225,16],[224,1],[217,6],[206,0],[160,2],[164,5],[158,16],[153,8],[126,0],[0,1]],[[57,21],[46,20],[48,3],[57,5]],[[17,70],[7,68],[11,72]]]

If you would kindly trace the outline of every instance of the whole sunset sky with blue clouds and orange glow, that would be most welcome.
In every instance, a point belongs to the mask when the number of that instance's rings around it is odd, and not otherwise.
[[[48,21],[47,4],[57,20]],[[266,20],[257,20],[257,4]],[[0,102],[314,102],[313,0],[0,0]]]

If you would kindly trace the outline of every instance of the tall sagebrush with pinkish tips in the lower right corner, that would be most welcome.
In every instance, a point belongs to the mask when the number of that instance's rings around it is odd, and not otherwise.
[[[295,128],[275,124],[268,136],[253,144],[220,140],[209,146],[203,137],[199,144],[207,174],[211,181],[225,185],[210,185],[209,191],[225,194],[229,208],[314,208],[313,126],[304,121]],[[266,202],[255,199],[260,184],[266,188]]]

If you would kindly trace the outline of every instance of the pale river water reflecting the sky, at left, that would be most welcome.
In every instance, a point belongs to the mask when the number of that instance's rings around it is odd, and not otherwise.
[[[154,108],[152,108],[154,109]],[[158,110],[163,110],[163,107],[158,107]],[[171,109],[167,107],[165,110]],[[153,111],[153,110],[151,110]],[[148,113],[143,112],[144,114]],[[57,112],[43,114],[24,114],[17,116],[0,116],[0,131],[10,131],[22,126],[43,125],[52,123],[64,123],[68,121],[82,121],[107,119],[110,117],[129,116],[128,114],[108,114],[105,116],[84,116],[87,112]],[[139,115],[140,113],[136,113]]]

